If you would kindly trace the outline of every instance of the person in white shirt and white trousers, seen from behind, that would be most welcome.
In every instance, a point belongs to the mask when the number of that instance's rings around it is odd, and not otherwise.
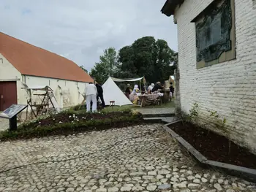
[[[86,111],[91,111],[92,101],[92,112],[97,112],[97,88],[92,82],[86,85],[83,95],[86,96]]]

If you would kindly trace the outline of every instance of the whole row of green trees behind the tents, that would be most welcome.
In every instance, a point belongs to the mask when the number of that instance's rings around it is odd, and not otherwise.
[[[163,39],[142,37],[132,45],[122,47],[118,54],[109,47],[91,69],[91,76],[103,83],[109,76],[118,78],[143,77],[148,83],[164,82],[173,75],[174,51]]]

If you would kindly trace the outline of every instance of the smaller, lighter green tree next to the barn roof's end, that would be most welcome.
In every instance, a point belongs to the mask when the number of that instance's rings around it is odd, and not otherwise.
[[[99,56],[99,62],[95,63],[91,69],[90,75],[100,84],[104,83],[109,76],[115,74],[118,70],[118,59],[116,49],[109,47],[104,50],[103,55]]]

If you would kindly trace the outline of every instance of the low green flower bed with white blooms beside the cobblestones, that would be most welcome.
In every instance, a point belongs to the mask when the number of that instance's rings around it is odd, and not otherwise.
[[[123,112],[86,113],[64,111],[47,118],[37,119],[18,126],[17,131],[1,131],[0,140],[29,139],[53,135],[68,135],[77,132],[118,128],[141,123],[140,113]]]

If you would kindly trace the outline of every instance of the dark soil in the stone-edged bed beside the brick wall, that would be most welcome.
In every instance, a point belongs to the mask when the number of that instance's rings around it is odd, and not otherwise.
[[[212,161],[256,169],[256,155],[226,137],[192,123],[179,122],[169,127]]]

